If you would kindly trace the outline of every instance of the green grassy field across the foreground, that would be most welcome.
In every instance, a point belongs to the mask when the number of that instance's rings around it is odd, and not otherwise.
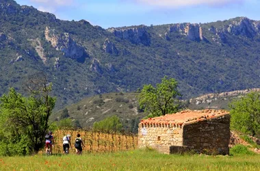
[[[120,153],[1,157],[0,170],[260,170],[260,155],[163,155]]]

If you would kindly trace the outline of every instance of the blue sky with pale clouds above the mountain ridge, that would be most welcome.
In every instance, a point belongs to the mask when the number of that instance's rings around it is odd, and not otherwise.
[[[84,19],[103,28],[208,23],[237,16],[260,21],[260,0],[16,0],[62,20]]]

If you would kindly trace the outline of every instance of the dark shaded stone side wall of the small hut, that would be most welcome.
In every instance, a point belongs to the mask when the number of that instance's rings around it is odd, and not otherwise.
[[[229,155],[230,115],[187,122],[183,125],[183,146],[197,153]]]

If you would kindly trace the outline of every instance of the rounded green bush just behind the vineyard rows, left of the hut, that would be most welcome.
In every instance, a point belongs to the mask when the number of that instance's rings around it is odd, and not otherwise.
[[[122,123],[120,122],[118,116],[111,116],[99,122],[94,122],[93,129],[94,131],[117,132],[122,130]]]

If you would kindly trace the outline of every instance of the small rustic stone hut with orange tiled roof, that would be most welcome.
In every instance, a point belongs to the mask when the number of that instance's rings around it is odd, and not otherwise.
[[[141,120],[138,147],[149,146],[161,153],[229,155],[230,115],[224,110],[185,110]]]

